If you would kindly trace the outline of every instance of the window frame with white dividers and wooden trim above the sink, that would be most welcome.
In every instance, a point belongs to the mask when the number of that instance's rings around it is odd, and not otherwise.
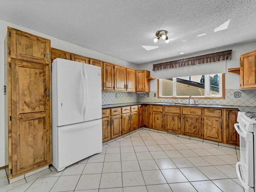
[[[220,95],[210,96],[209,75],[205,75],[205,95],[204,96],[191,96],[191,99],[225,99],[225,74],[220,74]],[[162,87],[160,86],[160,79],[157,79],[157,97],[159,99],[189,99],[189,96],[176,96],[176,78],[173,78],[173,93],[175,96],[162,96],[160,95]]]

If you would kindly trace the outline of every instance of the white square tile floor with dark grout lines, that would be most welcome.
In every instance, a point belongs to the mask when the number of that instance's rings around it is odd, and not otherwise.
[[[244,191],[238,156],[236,149],[141,129],[62,172],[51,166],[8,184],[0,170],[0,191]]]

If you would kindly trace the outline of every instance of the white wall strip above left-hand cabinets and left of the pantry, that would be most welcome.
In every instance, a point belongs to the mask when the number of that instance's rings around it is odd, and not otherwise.
[[[41,37],[45,37],[48,39],[51,39],[51,46],[60,50],[65,50],[68,52],[72,52],[75,54],[79,55],[84,55],[88,56],[91,58],[103,60],[106,62],[114,63],[114,64],[119,64],[125,67],[130,67],[130,68],[137,68],[137,65],[108,56],[104,55],[89,49],[86,49],[84,47],[69,43],[67,41],[63,41],[54,37],[50,37],[46,34],[41,34],[39,32],[26,29],[20,26],[16,26],[12,23],[0,20],[0,167],[7,165],[8,164],[8,146],[7,146],[7,131],[5,131],[5,126],[4,126],[4,40],[5,36],[7,33],[7,26],[13,27],[19,30],[23,30]],[[75,30],[74,30],[75,32]]]

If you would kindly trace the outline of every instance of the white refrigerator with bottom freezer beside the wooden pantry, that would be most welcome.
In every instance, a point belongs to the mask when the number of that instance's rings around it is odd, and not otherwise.
[[[52,63],[52,165],[65,167],[102,151],[101,68]]]

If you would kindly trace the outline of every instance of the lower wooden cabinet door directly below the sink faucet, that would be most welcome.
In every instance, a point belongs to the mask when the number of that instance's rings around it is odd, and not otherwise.
[[[182,134],[191,137],[202,137],[201,116],[182,115]]]

